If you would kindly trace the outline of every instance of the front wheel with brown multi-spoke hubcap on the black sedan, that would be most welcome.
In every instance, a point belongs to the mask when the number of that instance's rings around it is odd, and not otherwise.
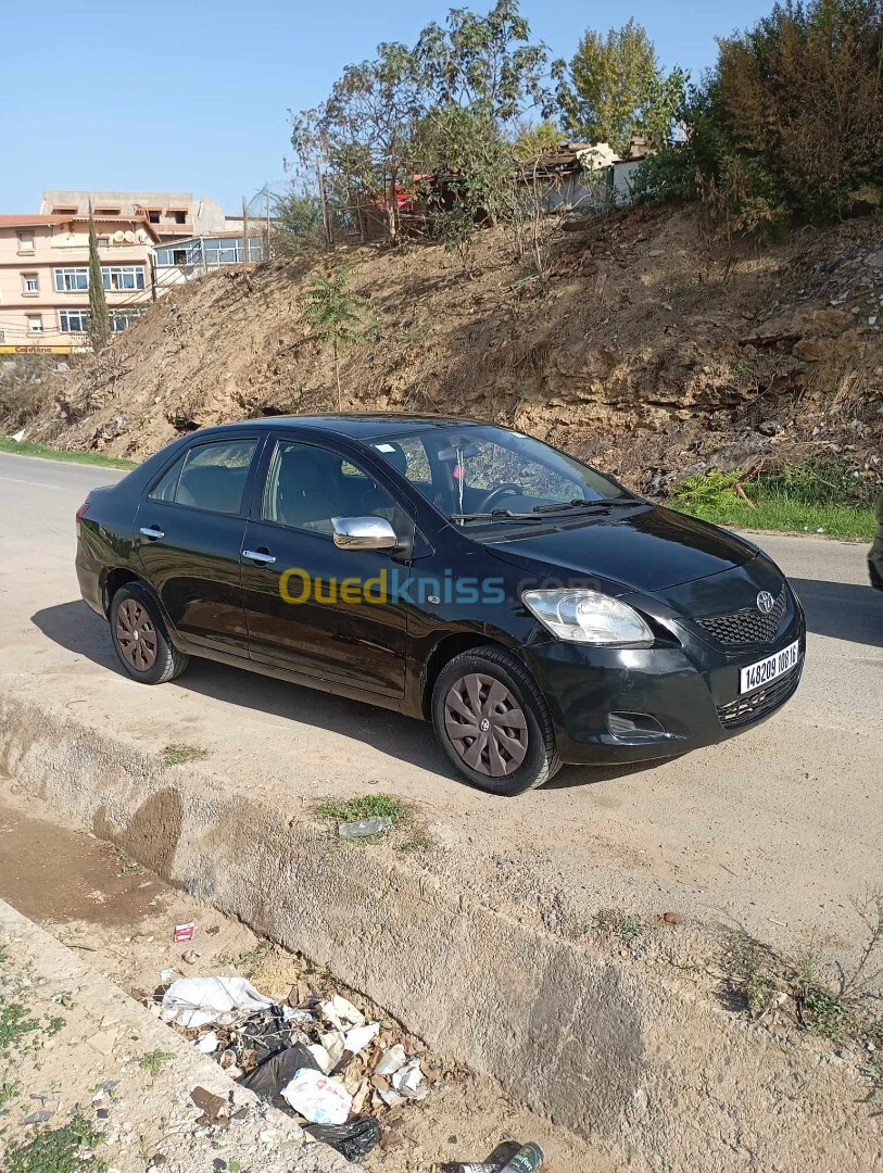
[[[433,689],[432,714],[454,767],[491,794],[524,794],[561,768],[545,698],[503,647],[483,645],[446,664]]]

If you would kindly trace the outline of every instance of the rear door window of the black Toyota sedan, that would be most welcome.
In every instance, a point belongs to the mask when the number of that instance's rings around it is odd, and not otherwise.
[[[209,513],[239,514],[257,440],[227,440],[188,449],[154,487],[151,501]]]

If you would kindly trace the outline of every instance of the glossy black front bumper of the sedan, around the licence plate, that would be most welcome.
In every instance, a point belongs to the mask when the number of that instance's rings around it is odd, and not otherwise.
[[[522,649],[549,705],[563,761],[617,764],[678,757],[760,724],[796,691],[806,656],[806,624],[796,598],[768,646],[724,650],[677,626],[677,640],[660,640],[653,647],[591,647],[553,639]],[[740,697],[740,670],[795,642],[800,642],[797,666]],[[661,731],[614,735],[611,713],[647,714]]]

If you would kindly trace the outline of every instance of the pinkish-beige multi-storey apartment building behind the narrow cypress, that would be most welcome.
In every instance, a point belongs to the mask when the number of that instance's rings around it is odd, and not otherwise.
[[[150,304],[159,236],[141,215],[95,211],[110,328]],[[69,354],[89,330],[89,217],[62,211],[0,216],[0,354]]]

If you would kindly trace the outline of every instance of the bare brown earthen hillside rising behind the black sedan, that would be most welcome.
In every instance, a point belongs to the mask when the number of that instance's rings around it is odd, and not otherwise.
[[[694,211],[636,210],[557,232],[548,257],[525,276],[487,232],[475,277],[435,245],[215,273],[64,377],[28,439],[138,459],[204,425],[334,409],[297,298],[347,264],[375,330],[344,359],[346,409],[497,420],[650,490],[831,452],[879,479],[883,217],[727,251]]]

